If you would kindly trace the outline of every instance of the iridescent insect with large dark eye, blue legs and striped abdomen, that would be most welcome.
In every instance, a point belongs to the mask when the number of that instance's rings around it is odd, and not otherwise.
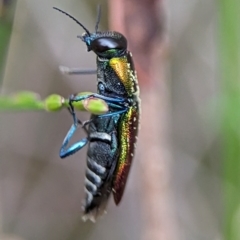
[[[70,103],[94,97],[104,100],[109,107],[106,114],[92,115],[87,122],[87,137],[69,147],[68,143],[80,124],[73,107],[71,113],[74,124],[60,150],[60,157],[65,158],[88,143],[83,219],[95,221],[105,210],[111,193],[116,205],[123,196],[139,128],[138,80],[132,55],[127,50],[126,38],[118,32],[97,31],[100,14],[95,32],[90,33],[68,13],[58,8],[54,9],[72,18],[85,30],[79,38],[86,43],[88,51],[97,55],[97,93],[72,95]]]

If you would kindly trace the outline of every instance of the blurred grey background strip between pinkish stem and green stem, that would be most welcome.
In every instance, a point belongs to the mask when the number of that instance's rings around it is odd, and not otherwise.
[[[179,239],[221,239],[217,4],[168,1],[172,181]]]

